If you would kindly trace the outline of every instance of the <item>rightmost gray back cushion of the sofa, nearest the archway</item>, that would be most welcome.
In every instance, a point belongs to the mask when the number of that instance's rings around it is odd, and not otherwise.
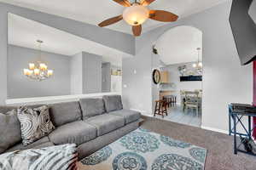
[[[118,111],[123,109],[122,98],[120,95],[103,96],[106,111]]]

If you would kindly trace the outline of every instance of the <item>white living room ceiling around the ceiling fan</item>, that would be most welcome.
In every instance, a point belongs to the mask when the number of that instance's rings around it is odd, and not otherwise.
[[[229,0],[156,0],[148,8],[168,10],[183,18],[224,1]],[[112,0],[0,0],[0,2],[32,8],[92,25],[97,25],[102,20],[122,14],[124,10],[124,7]],[[143,31],[149,31],[163,25],[163,23],[155,20],[147,20],[143,24]],[[123,20],[113,26],[108,26],[108,28],[131,33],[131,26],[128,26]]]

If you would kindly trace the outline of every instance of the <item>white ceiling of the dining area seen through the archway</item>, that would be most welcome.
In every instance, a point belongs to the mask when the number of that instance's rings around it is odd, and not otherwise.
[[[166,31],[155,42],[160,59],[166,65],[195,62],[201,60],[202,32],[191,26],[177,26]]]

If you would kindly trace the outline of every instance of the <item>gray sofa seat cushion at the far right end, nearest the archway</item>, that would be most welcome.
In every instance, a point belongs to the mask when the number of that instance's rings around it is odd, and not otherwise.
[[[136,122],[138,119],[141,118],[140,112],[131,111],[131,110],[112,111],[112,112],[109,112],[108,114],[115,115],[115,116],[123,116],[125,118],[125,124]]]

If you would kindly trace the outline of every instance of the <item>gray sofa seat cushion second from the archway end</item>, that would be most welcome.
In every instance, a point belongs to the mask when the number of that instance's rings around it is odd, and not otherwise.
[[[90,123],[92,126],[97,128],[97,135],[102,136],[103,134],[110,133],[119,127],[125,126],[125,118],[122,116],[114,116],[109,114],[103,114],[100,116],[93,116],[84,122]]]

